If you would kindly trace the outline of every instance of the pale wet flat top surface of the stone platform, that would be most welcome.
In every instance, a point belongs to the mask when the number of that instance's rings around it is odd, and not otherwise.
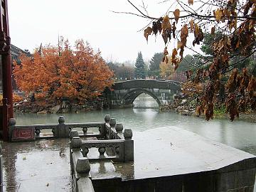
[[[178,176],[207,171],[255,168],[256,158],[178,127],[162,127],[134,133],[134,163],[114,164],[124,180]],[[250,164],[248,163],[250,161]],[[240,166],[235,166],[242,162]],[[100,179],[100,169],[91,171]],[[105,173],[102,172],[102,178]],[[110,175],[108,175],[110,178]]]

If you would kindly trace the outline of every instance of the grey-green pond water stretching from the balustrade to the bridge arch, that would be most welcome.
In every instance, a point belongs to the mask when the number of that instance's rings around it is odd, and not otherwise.
[[[188,117],[174,112],[159,112],[156,101],[145,95],[137,97],[134,109],[92,111],[78,114],[63,114],[65,122],[103,122],[105,114],[115,117],[133,132],[143,132],[164,126],[176,126],[199,134],[216,142],[228,144],[256,155],[256,123],[235,119],[213,119],[207,122],[198,117]],[[60,114],[16,114],[17,124],[58,123]]]

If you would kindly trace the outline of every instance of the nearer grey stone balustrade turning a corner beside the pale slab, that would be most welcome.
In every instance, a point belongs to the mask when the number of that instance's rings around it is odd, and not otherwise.
[[[134,161],[134,141],[132,130],[124,129],[117,124],[110,115],[105,116],[104,140],[84,140],[80,138],[78,130],[71,130],[70,137],[70,165],[74,191],[94,191],[90,180],[90,162],[93,161]],[[101,127],[102,128],[102,127]],[[90,149],[97,148],[99,154],[90,156]]]

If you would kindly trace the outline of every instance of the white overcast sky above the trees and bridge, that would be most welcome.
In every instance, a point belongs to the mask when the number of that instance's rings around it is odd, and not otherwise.
[[[159,1],[144,2],[153,16],[166,11],[166,4]],[[117,62],[136,60],[138,51],[147,60],[164,50],[160,36],[156,40],[151,36],[146,43],[143,32],[137,32],[148,20],[111,10],[136,12],[126,0],[9,0],[11,43],[33,52],[41,43],[56,45],[58,34],[70,43],[83,38],[95,50],[99,48],[103,58]]]

